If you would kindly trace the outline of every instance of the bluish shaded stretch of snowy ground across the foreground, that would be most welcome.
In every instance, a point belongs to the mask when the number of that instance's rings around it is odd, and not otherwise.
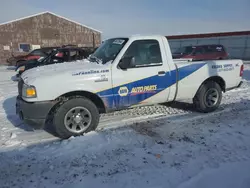
[[[237,115],[243,119],[249,112]],[[8,149],[0,154],[0,185],[228,188],[233,182],[247,188],[250,118],[236,124],[230,116],[155,120]]]

